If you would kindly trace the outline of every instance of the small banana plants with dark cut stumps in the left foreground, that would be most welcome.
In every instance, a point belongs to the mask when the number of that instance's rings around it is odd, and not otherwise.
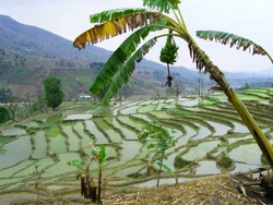
[[[68,165],[76,167],[81,172],[78,174],[78,179],[81,179],[81,194],[85,198],[91,198],[92,202],[97,202],[102,204],[100,195],[102,195],[102,173],[103,173],[103,165],[106,161],[106,153],[105,146],[99,146],[99,150],[91,143],[92,156],[88,160],[69,160]],[[90,176],[90,166],[92,161],[97,162],[98,167],[98,192],[96,193],[96,186],[94,179]]]

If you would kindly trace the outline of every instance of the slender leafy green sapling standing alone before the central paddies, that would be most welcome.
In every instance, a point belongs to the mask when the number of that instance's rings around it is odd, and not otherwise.
[[[174,134],[175,131],[171,130],[171,133]],[[153,142],[149,143],[146,148],[155,150],[153,160],[157,161],[157,165],[159,167],[156,184],[158,186],[162,169],[164,168],[166,171],[173,172],[173,170],[168,166],[163,164],[163,160],[167,159],[167,157],[165,156],[166,150],[170,146],[175,146],[177,141],[174,140],[174,136],[169,134],[168,130],[165,126],[158,124],[156,121],[150,122],[147,125],[145,125],[143,132],[139,135],[139,140],[141,142],[146,142],[147,138],[153,140]]]

